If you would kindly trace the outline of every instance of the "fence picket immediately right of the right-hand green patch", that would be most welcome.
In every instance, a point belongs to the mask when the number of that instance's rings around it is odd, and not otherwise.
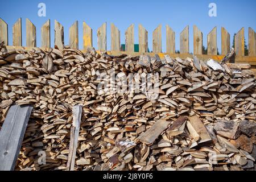
[[[139,52],[148,52],[148,32],[139,24]]]

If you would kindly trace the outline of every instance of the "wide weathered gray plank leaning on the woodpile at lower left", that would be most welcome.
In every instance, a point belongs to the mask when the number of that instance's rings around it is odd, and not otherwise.
[[[0,131],[0,171],[14,170],[31,111],[28,105],[10,107]]]

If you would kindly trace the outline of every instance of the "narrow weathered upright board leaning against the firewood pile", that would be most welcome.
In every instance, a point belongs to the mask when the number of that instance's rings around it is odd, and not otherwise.
[[[81,105],[74,106],[73,107],[73,126],[71,128],[69,154],[68,154],[68,162],[67,162],[67,169],[70,171],[73,171],[75,166],[75,158],[76,158],[77,142],[79,138],[81,116],[82,116],[82,106]]]

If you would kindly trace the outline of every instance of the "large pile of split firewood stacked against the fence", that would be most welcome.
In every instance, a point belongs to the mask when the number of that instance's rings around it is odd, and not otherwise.
[[[12,104],[34,106],[16,170],[66,169],[75,105],[76,170],[255,168],[250,70],[196,57],[0,49],[0,122]]]

